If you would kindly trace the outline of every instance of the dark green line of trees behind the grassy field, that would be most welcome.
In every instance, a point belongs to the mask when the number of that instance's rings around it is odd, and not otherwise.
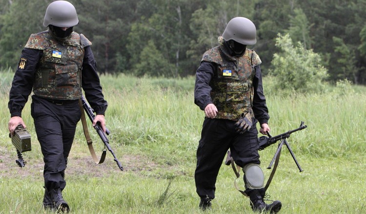
[[[194,75],[227,22],[242,16],[257,27],[258,42],[249,48],[261,57],[264,75],[282,51],[276,39],[288,34],[293,44],[317,53],[328,81],[366,84],[366,0],[69,1],[80,20],[74,31],[92,41],[101,73]],[[30,34],[46,30],[50,2],[0,0],[0,67],[16,68]]]

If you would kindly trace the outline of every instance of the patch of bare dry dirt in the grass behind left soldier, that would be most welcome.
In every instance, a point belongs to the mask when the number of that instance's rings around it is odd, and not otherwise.
[[[35,179],[43,179],[43,160],[41,155],[38,155],[39,158],[33,158],[32,155],[35,155],[39,149],[35,149],[30,152],[23,153],[23,159],[26,162],[25,167],[20,168],[15,160],[18,159],[15,148],[5,147],[0,145],[0,177],[3,178],[23,178],[23,177],[32,177]],[[10,154],[11,153],[11,154]],[[97,152],[97,155],[100,155],[101,152]],[[149,163],[148,169],[146,157],[136,157],[136,156],[123,156],[118,157],[121,162],[124,171],[123,172],[135,172],[139,173],[141,170],[151,170],[155,164]],[[146,161],[144,161],[146,160]],[[107,151],[107,156],[102,164],[94,163],[91,158],[89,151],[86,149],[84,153],[75,153],[71,150],[68,165],[66,169],[66,175],[90,175],[93,177],[102,177],[104,175],[108,175],[110,173],[120,172],[120,169],[117,166],[117,163],[113,160],[113,156]]]

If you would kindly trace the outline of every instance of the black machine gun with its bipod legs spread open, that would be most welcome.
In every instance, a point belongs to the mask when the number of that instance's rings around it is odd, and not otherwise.
[[[276,143],[277,141],[281,141],[281,143],[278,145],[277,151],[276,151],[272,161],[270,162],[269,166],[267,167],[267,169],[270,169],[272,167],[273,162],[276,160],[277,156],[281,153],[282,146],[285,144],[288,151],[290,152],[293,160],[295,161],[297,167],[299,168],[300,172],[304,171],[301,168],[299,162],[296,160],[296,157],[295,157],[294,153],[292,152],[292,149],[291,149],[290,145],[287,143],[287,138],[289,138],[292,133],[294,133],[296,131],[303,130],[306,127],[307,126],[304,125],[304,121],[302,121],[301,124],[300,124],[300,127],[296,128],[294,130],[287,131],[283,134],[280,134],[280,135],[277,135],[277,136],[274,136],[274,137],[272,137],[268,133],[268,137],[262,136],[258,139],[259,140],[259,150],[263,150],[264,148]]]

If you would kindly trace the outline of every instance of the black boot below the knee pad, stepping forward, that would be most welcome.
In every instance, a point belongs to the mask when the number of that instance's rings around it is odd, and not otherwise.
[[[252,207],[253,212],[269,212],[271,214],[276,214],[281,210],[282,204],[281,201],[273,201],[271,204],[264,203],[264,188],[262,189],[248,189],[245,190],[245,193],[250,198],[250,206]]]

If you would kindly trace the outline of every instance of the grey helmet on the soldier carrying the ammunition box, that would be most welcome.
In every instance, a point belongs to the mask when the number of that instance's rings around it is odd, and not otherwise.
[[[68,1],[57,0],[50,3],[44,15],[43,26],[73,27],[79,23],[74,5]]]

